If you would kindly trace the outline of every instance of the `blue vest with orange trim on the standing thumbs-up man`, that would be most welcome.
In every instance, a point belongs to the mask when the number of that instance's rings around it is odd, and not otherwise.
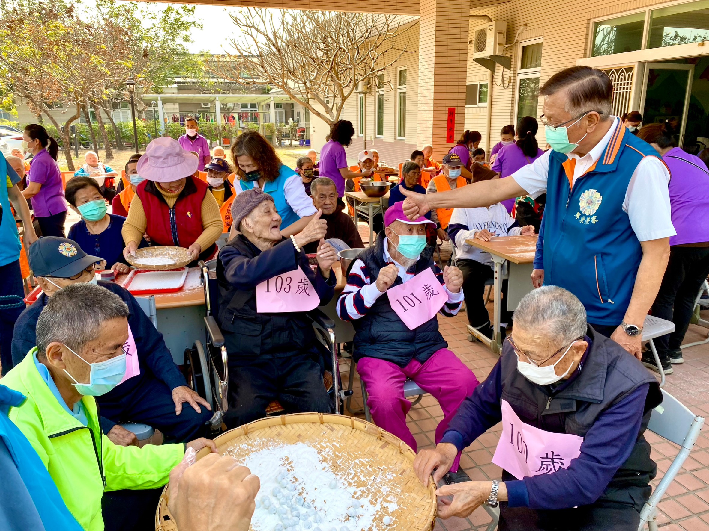
[[[549,156],[544,282],[579,297],[592,324],[619,325],[630,303],[642,249],[623,201],[644,156],[658,154],[620,124],[601,158],[573,188],[575,161],[553,151]]]

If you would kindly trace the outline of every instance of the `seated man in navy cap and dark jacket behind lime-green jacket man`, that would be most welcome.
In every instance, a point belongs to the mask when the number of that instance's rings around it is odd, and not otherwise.
[[[130,309],[131,356],[135,354],[138,358],[135,365],[131,365],[130,377],[98,398],[104,433],[117,445],[138,444],[135,435],[118,422],[145,423],[177,442],[208,433],[206,423],[213,413],[207,401],[187,387],[162,334],[140,309],[138,301],[116,282],[94,280],[96,265],[103,262],[101,258],[84,253],[71,239],[45,236],[30,246],[29,262],[42,294],[15,323],[12,339],[14,365],[18,365],[37,345],[35,329],[38,319],[52,297],[72,284],[96,283],[121,297]]]

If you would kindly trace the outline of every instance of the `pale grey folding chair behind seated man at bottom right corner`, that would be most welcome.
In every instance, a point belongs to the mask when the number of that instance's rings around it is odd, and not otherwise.
[[[669,469],[659,482],[659,485],[650,496],[649,500],[640,511],[640,525],[642,531],[647,523],[650,531],[657,531],[657,504],[674,481],[677,472],[681,469],[684,460],[692,451],[699,432],[704,426],[704,418],[689,411],[679,400],[666,391],[662,391],[662,404],[652,410],[652,416],[647,429],[657,433],[660,437],[671,440],[680,445],[679,453],[674,458]]]

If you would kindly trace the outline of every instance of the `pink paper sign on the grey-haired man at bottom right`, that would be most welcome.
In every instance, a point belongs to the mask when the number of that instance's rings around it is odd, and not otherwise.
[[[515,478],[552,474],[581,455],[583,437],[540,430],[520,421],[505,399],[501,406],[502,435],[492,462]]]

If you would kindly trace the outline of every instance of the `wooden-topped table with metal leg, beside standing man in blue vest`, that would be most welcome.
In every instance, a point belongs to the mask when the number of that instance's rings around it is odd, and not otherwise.
[[[508,311],[512,312],[522,297],[532,290],[532,262],[537,249],[537,236],[497,236],[490,241],[469,238],[468,245],[490,253],[495,264],[495,284],[493,285],[493,338],[490,340],[479,331],[468,325],[471,336],[485,343],[494,353],[500,353],[502,335],[500,333],[502,281],[507,280],[507,297],[505,302]],[[504,274],[503,266],[508,263],[508,273]],[[472,338],[470,338],[472,341]]]

